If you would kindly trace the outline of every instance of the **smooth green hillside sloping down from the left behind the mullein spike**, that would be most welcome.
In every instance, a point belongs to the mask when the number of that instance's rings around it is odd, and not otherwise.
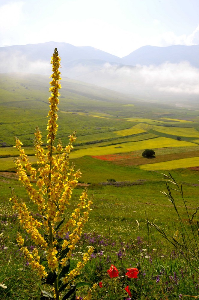
[[[64,144],[74,130],[84,136],[129,127],[117,116],[132,116],[132,97],[64,77],[61,86],[58,138]],[[14,136],[31,146],[37,125],[45,140],[49,97],[49,76],[0,74],[0,147],[13,145]]]

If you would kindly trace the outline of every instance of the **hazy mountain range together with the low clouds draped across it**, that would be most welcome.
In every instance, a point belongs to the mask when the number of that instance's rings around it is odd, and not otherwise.
[[[199,95],[199,45],[144,46],[119,58],[90,46],[47,42],[0,47],[1,73],[51,74],[55,47],[61,73],[144,100],[181,101]]]

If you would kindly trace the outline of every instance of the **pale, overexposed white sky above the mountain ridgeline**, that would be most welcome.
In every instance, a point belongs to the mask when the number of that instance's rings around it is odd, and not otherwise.
[[[123,57],[199,44],[199,0],[0,0],[0,47],[48,41]]]

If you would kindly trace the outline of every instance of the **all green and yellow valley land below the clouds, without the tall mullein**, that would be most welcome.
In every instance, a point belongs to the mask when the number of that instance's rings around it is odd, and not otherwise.
[[[13,137],[17,135],[29,161],[36,167],[32,142],[36,125],[43,133],[43,147],[47,152],[46,82],[49,80],[44,76],[15,74],[0,74],[0,79],[3,86],[0,283],[7,287],[0,286],[0,298],[40,299],[43,286],[20,252],[16,233],[22,234],[30,251],[35,246],[20,227],[19,215],[13,211],[9,198],[14,188],[34,218],[43,222],[43,216],[18,181],[12,157],[19,155],[13,148]],[[94,299],[198,298],[195,213],[199,187],[198,110],[142,103],[70,79],[61,83],[57,139],[61,138],[65,145],[68,135],[77,130],[75,149],[69,157],[82,172],[65,217],[69,218],[76,208],[85,186],[89,198],[94,194],[89,221],[73,253],[71,267],[82,260],[92,245],[94,253],[82,274],[84,281],[98,284],[93,291]],[[147,148],[154,149],[154,158],[142,157]],[[167,178],[169,170],[173,178]],[[161,193],[167,191],[165,182],[173,188],[168,190],[168,195]],[[34,180],[32,184],[36,187]],[[118,269],[119,276],[110,278],[107,270],[111,265]],[[125,276],[126,268],[138,268],[138,277]],[[131,296],[124,289],[126,286]],[[86,287],[76,292],[79,299],[85,294]]]

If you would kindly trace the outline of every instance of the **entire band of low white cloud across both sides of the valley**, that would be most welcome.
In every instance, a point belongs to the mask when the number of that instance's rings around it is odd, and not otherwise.
[[[29,61],[20,52],[1,52],[1,73],[35,73],[50,75],[49,61]],[[146,100],[197,99],[199,96],[199,69],[189,62],[177,64],[165,62],[161,65],[122,66],[110,63],[73,62],[61,68],[62,76],[89,82],[98,86],[123,92]]]

